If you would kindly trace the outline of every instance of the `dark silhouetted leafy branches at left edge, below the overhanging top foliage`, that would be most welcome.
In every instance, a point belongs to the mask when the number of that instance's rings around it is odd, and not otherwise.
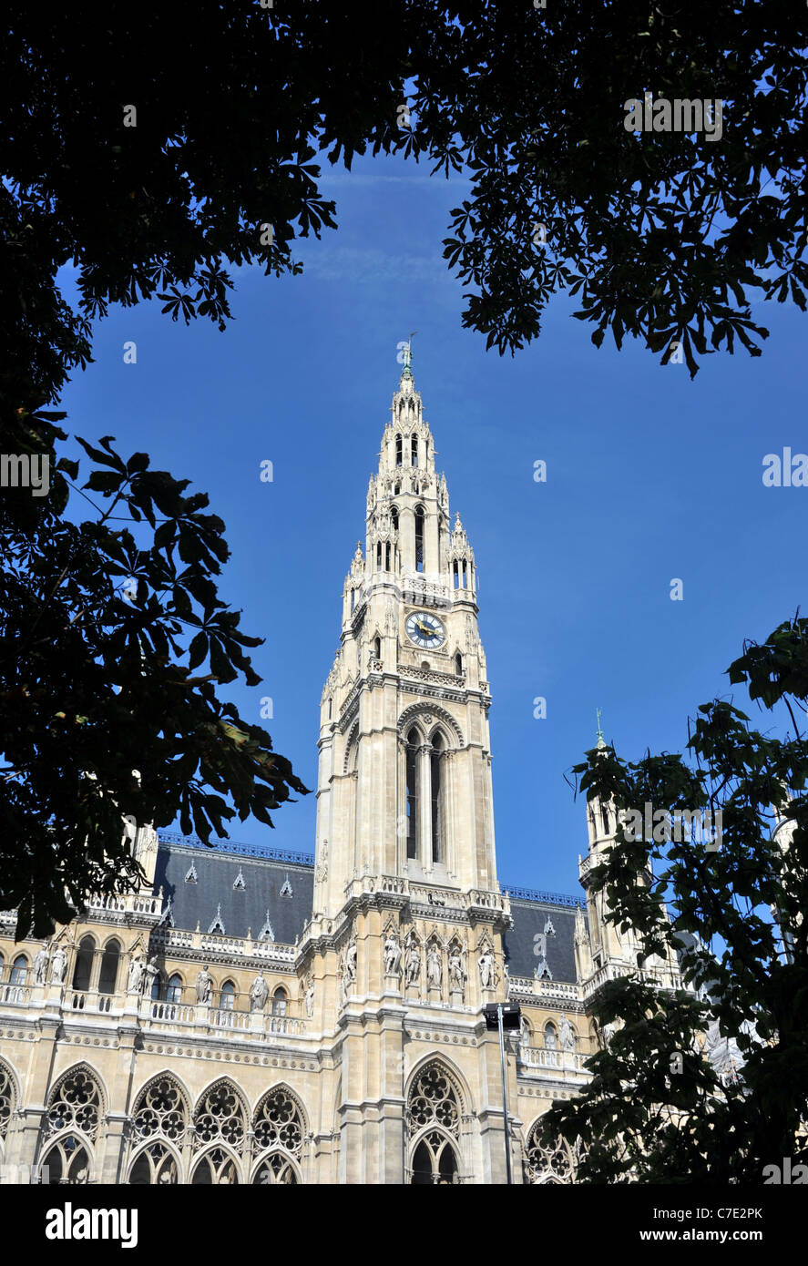
[[[32,432],[63,438],[60,417]],[[65,515],[79,477],[65,457],[48,496],[0,499],[0,909],[18,909],[18,938],[138,881],[122,815],[179,814],[208,842],[236,814],[271,827],[306,791],[217,698],[214,682],[260,682],[244,648],[261,639],[218,596],[228,548],[208,498],[146,453],[124,462],[110,437],[81,443],[95,518]]]

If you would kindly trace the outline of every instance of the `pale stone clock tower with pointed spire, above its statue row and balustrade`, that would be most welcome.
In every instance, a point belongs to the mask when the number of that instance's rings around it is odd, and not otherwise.
[[[490,701],[474,551],[407,365],[320,701],[314,912],[362,875],[496,890]]]

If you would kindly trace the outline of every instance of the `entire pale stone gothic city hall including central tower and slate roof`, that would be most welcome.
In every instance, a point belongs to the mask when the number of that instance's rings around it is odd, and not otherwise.
[[[500,885],[475,556],[434,456],[405,366],[320,698],[313,855],[133,827],[141,891],[44,943],[0,914],[4,1181],[500,1184],[507,1148],[514,1182],[575,1181],[537,1124],[637,962],[588,891],[614,822],[588,806],[580,900]]]

